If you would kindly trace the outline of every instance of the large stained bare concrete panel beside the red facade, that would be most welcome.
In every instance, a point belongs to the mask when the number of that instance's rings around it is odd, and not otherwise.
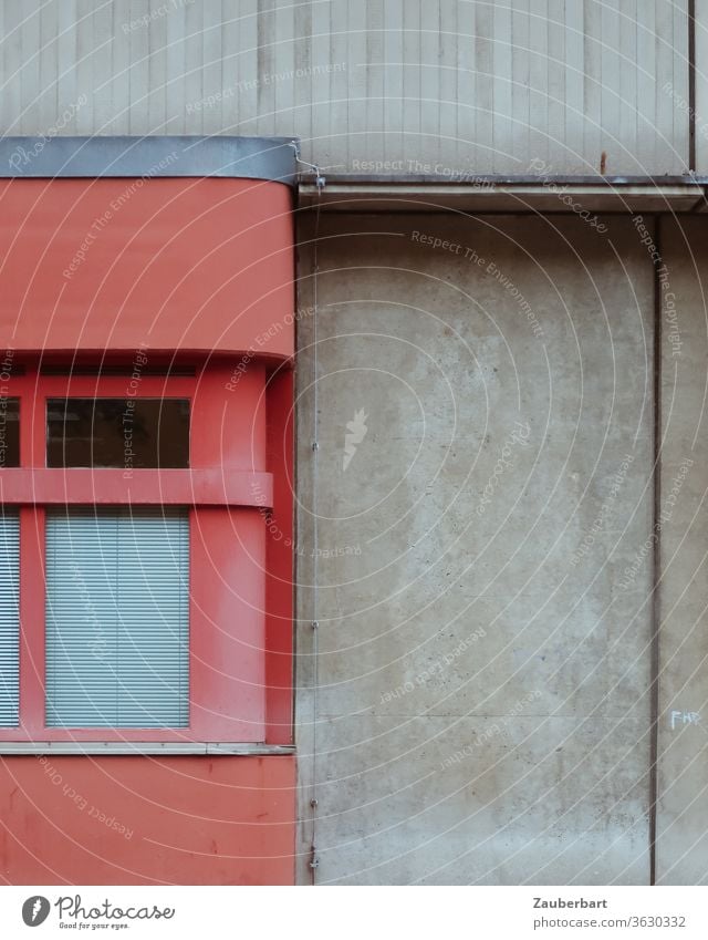
[[[313,796],[320,882],[648,880],[653,272],[602,224],[322,215],[316,333],[303,224],[303,881]]]

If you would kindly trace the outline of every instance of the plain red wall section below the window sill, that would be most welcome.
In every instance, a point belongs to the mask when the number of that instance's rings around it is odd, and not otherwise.
[[[4,757],[10,885],[289,885],[292,757]]]

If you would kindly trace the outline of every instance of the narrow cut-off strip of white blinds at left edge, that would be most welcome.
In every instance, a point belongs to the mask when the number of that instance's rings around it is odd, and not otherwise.
[[[17,727],[20,705],[20,524],[0,512],[0,727]]]

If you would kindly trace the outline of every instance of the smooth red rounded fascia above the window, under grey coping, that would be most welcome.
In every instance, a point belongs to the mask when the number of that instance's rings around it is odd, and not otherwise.
[[[2,334],[15,350],[291,357],[290,210],[287,186],[252,179],[3,180]]]

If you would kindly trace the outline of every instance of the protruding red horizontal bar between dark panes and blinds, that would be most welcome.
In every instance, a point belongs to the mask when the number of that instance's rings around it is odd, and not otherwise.
[[[273,502],[270,473],[239,469],[0,469],[0,503],[263,506]]]

